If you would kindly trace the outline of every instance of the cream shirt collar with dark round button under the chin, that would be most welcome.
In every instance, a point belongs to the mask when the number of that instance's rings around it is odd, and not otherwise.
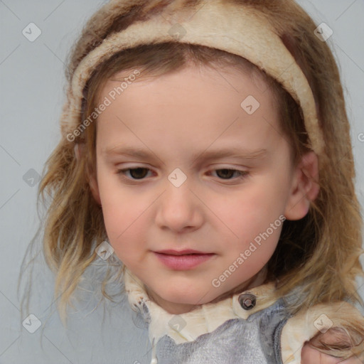
[[[233,294],[216,303],[202,304],[186,314],[170,314],[149,299],[141,280],[127,267],[124,271],[124,284],[129,304],[134,311],[140,312],[149,324],[149,339],[156,343],[165,335],[176,343],[195,341],[204,333],[210,333],[229,319],[247,319],[257,311],[274,304],[278,297],[274,295],[275,284],[269,282],[239,294]],[[269,296],[265,304],[259,297]]]

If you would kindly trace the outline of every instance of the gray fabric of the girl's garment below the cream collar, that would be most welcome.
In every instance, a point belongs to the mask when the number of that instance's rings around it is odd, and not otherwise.
[[[247,320],[225,321],[193,342],[176,345],[164,336],[156,345],[158,364],[282,364],[280,338],[288,319],[280,299]]]

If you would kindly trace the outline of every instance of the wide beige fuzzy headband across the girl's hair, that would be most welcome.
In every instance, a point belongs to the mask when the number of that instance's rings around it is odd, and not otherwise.
[[[110,8],[116,8],[121,1],[110,1]],[[316,154],[322,154],[323,136],[309,82],[263,14],[251,7],[236,6],[223,0],[203,0],[199,9],[193,11],[178,7],[180,2],[166,6],[161,15],[112,33],[82,59],[73,75],[68,103],[63,108],[60,124],[64,137],[70,140],[70,134],[80,126],[82,91],[97,65],[126,48],[178,41],[240,55],[280,82],[301,106],[311,148]],[[181,31],[178,38],[173,33],[173,25]]]

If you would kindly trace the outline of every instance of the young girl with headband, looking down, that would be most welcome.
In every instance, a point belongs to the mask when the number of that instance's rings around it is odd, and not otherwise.
[[[105,262],[102,293],[127,295],[151,363],[364,363],[362,222],[325,31],[293,0],[113,0],[90,18],[40,186],[64,321]]]

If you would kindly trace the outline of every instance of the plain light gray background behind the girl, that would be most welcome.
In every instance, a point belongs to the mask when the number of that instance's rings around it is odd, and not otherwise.
[[[55,313],[45,328],[44,351],[41,351],[41,330],[31,334],[22,329],[24,318],[20,317],[16,294],[21,260],[38,228],[38,184],[29,186],[30,181],[26,183],[24,178],[27,178],[23,176],[34,175],[30,169],[41,174],[45,159],[60,139],[58,119],[64,101],[65,55],[82,24],[104,3],[100,0],[0,0],[0,363],[124,363],[120,348],[123,343],[124,347],[129,344],[117,336],[122,324],[115,319],[117,315],[103,331],[99,327],[100,312],[95,311],[90,319],[74,319],[70,334],[65,333]],[[300,0],[299,4],[317,24],[325,22],[333,29],[328,43],[341,68],[352,125],[356,186],[364,206],[364,134],[360,134],[364,133],[364,1]],[[33,42],[22,34],[31,22],[42,32]],[[49,303],[52,297],[51,276],[46,270],[42,272],[38,277],[39,306],[34,306],[33,311],[38,317],[47,308],[40,306]],[[364,296],[363,287],[360,294]],[[107,343],[101,345],[102,339]],[[140,358],[130,358],[125,363],[133,360],[146,363],[142,349]]]

